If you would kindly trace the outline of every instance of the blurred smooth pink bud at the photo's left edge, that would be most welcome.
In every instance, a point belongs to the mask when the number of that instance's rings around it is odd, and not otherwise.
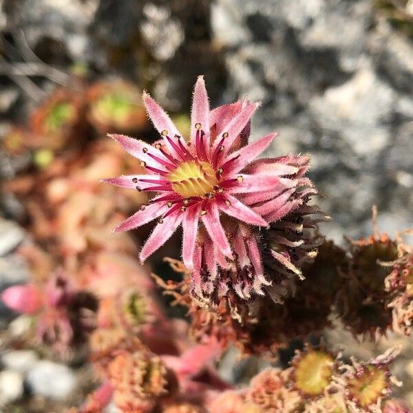
[[[34,314],[43,303],[40,291],[32,284],[11,286],[1,293],[3,303],[22,314]]]

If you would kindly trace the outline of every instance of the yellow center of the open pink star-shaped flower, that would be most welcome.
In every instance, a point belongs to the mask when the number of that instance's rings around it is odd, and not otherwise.
[[[218,184],[211,165],[199,160],[182,163],[169,173],[168,179],[171,181],[173,191],[183,198],[213,193],[213,187]]]

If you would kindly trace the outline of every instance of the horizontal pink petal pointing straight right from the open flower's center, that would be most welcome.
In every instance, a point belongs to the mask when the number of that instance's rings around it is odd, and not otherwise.
[[[247,193],[257,191],[280,191],[293,186],[293,180],[271,175],[246,175],[242,173],[242,182],[235,182],[233,187],[226,190],[228,193]]]

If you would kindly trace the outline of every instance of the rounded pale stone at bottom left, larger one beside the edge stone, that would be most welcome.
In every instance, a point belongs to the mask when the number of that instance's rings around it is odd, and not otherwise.
[[[63,364],[41,360],[29,370],[28,387],[34,394],[64,400],[76,388],[76,376]]]

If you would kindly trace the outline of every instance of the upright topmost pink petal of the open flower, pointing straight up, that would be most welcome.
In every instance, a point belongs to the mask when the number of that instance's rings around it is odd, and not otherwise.
[[[198,76],[193,92],[192,112],[191,112],[191,142],[195,145],[196,128],[195,124],[200,123],[204,131],[204,145],[209,152],[209,102],[207,89],[205,88],[204,76]]]

